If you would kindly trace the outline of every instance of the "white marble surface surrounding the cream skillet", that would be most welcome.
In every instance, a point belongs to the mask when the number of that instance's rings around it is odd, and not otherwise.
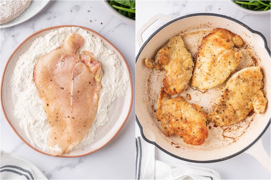
[[[247,14],[235,8],[229,1],[137,1],[136,9],[136,33],[147,20],[158,13],[163,13],[173,19],[192,13],[217,13],[231,16],[250,28],[263,33],[270,49],[270,14],[264,16]],[[143,34],[143,40],[147,40],[164,23],[157,21],[150,26]],[[136,44],[135,52],[138,53],[138,50],[139,47]],[[137,124],[135,129],[136,136],[140,136]],[[264,148],[270,156],[270,126],[262,138]],[[222,162],[198,164],[173,158],[158,148],[156,148],[155,152],[156,159],[160,161],[215,169],[220,173],[221,179],[270,179],[270,173],[254,157],[244,153]]]

